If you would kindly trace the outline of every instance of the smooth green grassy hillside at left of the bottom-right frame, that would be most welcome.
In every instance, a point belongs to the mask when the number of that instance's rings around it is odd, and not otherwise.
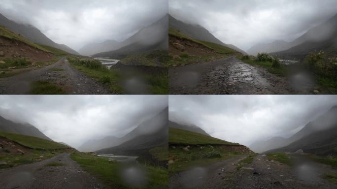
[[[169,127],[169,144],[239,145],[200,133],[171,127]]]

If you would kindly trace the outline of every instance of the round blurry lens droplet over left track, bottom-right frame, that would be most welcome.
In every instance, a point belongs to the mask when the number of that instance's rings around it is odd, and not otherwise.
[[[207,170],[202,167],[194,167],[182,173],[179,183],[181,183],[186,189],[196,189],[202,186],[206,179]]]

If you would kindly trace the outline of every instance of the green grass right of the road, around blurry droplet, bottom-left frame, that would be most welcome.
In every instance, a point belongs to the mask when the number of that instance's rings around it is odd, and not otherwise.
[[[96,176],[98,179],[112,189],[129,189],[121,178],[123,163],[109,162],[108,158],[96,157],[85,153],[73,153],[70,156],[87,172]],[[148,175],[148,182],[144,189],[168,188],[168,173],[166,169],[152,166],[144,167]]]

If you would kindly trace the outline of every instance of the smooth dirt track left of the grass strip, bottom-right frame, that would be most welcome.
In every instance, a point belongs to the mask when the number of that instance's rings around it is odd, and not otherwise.
[[[235,171],[235,165],[245,157],[237,156],[177,173],[169,178],[169,189],[222,189],[225,173]]]

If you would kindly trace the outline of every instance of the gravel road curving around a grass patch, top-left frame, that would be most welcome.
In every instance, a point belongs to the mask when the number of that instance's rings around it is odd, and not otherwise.
[[[40,69],[1,78],[0,94],[25,95],[29,93],[32,82],[43,80],[57,83],[70,95],[109,94],[108,90],[97,81],[71,67],[65,57]]]

